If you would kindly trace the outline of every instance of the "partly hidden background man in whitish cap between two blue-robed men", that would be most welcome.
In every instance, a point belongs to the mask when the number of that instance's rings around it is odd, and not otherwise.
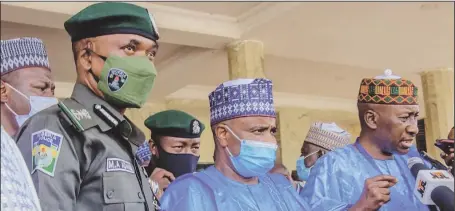
[[[351,135],[333,123],[315,122],[300,149],[297,160],[297,175],[300,181],[306,182],[311,168],[316,161],[329,151],[351,143]]]

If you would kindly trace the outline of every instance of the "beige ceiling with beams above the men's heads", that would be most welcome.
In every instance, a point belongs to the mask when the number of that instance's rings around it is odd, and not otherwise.
[[[4,3],[2,39],[44,40],[57,81],[75,70],[63,21],[74,5]],[[264,43],[265,71],[277,92],[355,102],[361,78],[391,68],[421,86],[419,72],[454,66],[453,2],[141,2],[162,40],[150,101],[188,86],[228,80],[226,44]],[[17,15],[18,12],[24,15]],[[54,17],[37,20],[37,16]],[[208,89],[210,90],[210,89]],[[421,93],[420,93],[421,94]]]

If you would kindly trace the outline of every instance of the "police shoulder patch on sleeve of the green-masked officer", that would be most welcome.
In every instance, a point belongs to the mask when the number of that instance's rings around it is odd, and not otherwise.
[[[51,177],[57,166],[63,136],[48,129],[32,133],[32,174],[41,171]]]

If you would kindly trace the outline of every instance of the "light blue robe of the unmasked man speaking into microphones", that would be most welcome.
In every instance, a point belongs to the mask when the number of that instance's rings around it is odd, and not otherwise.
[[[390,188],[391,200],[380,211],[427,211],[414,196],[415,178],[407,166],[410,157],[419,157],[413,146],[406,155],[376,160],[360,146],[351,144],[321,157],[311,169],[300,196],[312,210],[347,210],[360,198],[365,180],[377,175],[392,175],[398,183]],[[365,156],[366,155],[366,156]],[[428,164],[427,164],[428,165]]]

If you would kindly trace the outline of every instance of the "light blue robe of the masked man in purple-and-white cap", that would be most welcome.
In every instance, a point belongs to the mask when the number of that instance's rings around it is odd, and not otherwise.
[[[160,200],[165,211],[310,210],[283,175],[267,174],[256,185],[225,177],[214,166],[171,183]]]

